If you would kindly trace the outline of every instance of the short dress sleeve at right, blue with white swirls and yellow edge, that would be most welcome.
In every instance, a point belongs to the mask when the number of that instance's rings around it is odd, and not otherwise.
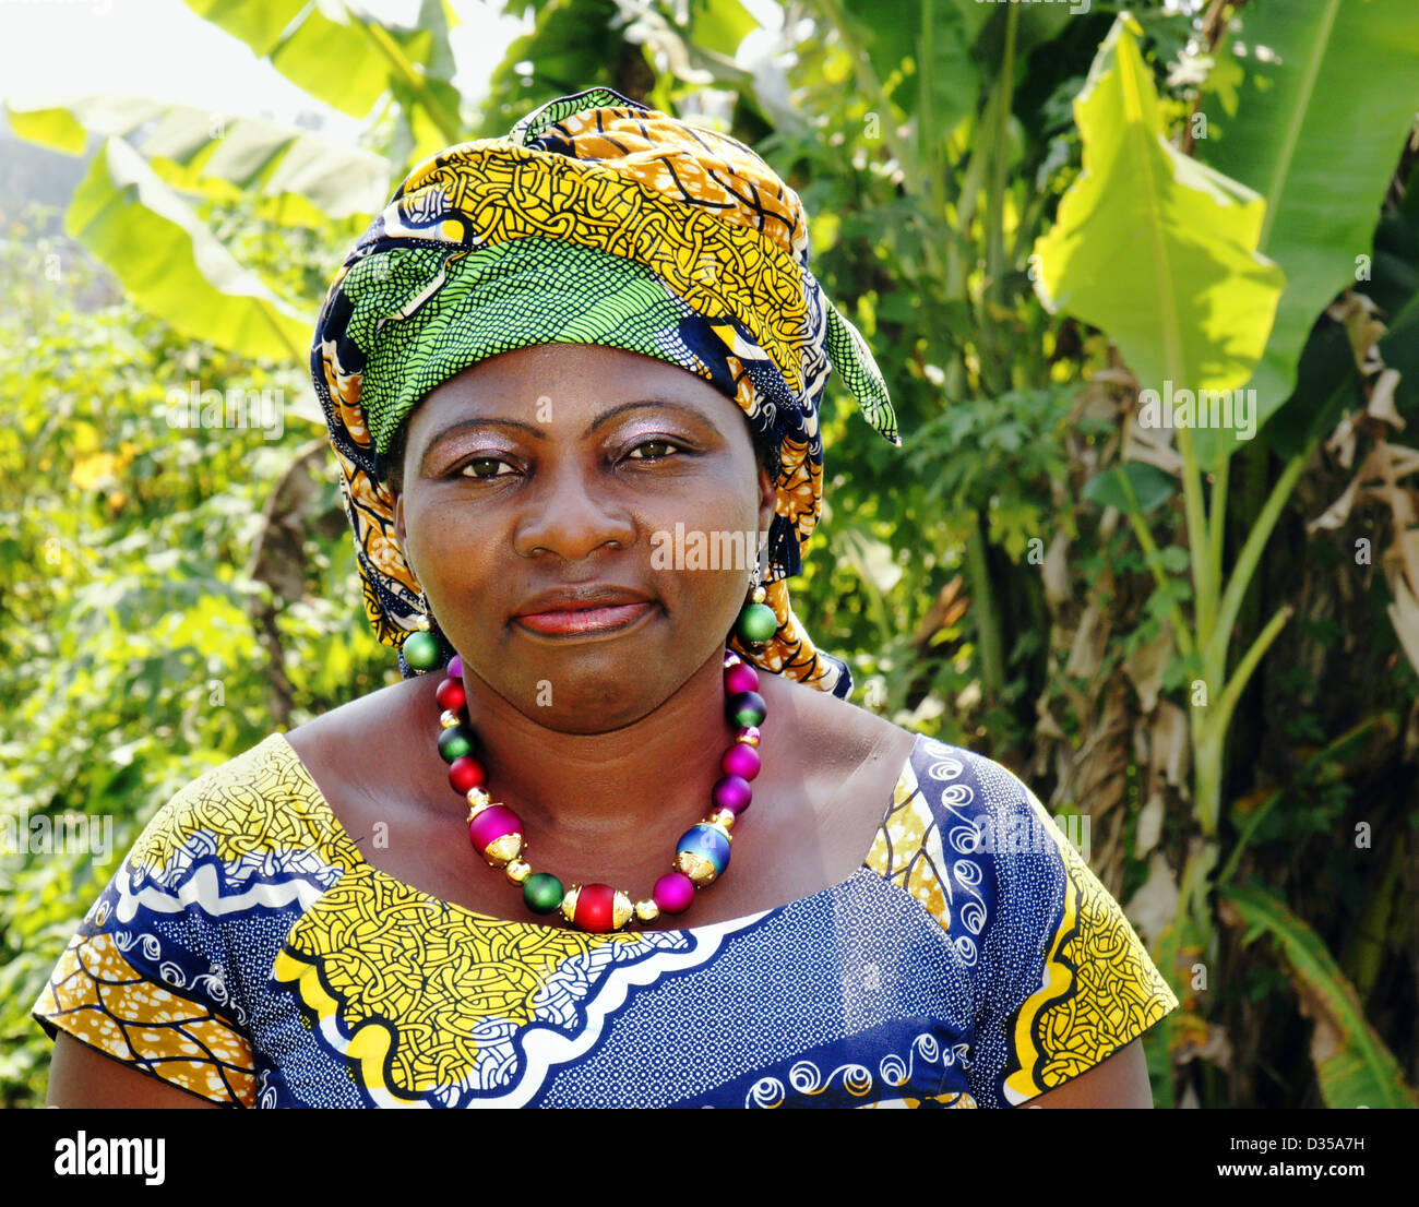
[[[912,750],[870,864],[972,973],[978,1101],[1044,1094],[1179,1004],[1090,869],[1088,840],[1087,816],[1051,817],[993,759],[934,738]]]

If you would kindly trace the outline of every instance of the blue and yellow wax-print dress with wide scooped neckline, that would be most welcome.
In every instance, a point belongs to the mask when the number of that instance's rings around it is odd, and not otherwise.
[[[368,864],[281,733],[159,811],[34,1006],[233,1106],[1012,1106],[1178,1006],[1039,800],[918,735],[841,884],[586,935]]]

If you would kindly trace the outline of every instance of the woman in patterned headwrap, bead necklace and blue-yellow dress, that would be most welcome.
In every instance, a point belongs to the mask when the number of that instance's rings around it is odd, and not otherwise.
[[[898,444],[732,139],[590,89],[416,169],[312,349],[404,679],[153,820],[35,1004],[50,1101],[1151,1105],[1118,905],[789,606],[830,365]]]

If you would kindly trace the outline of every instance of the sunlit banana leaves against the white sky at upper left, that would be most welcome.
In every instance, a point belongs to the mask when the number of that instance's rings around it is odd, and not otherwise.
[[[196,206],[241,200],[251,211],[312,228],[362,226],[412,159],[465,136],[438,0],[410,26],[353,3],[192,0],[190,7],[316,99],[370,129],[377,150],[309,130],[142,98],[11,98],[21,138],[82,155],[88,172],[65,231],[114,269],[125,292],[173,328],[219,347],[288,365],[305,359],[318,296],[284,296],[244,265]]]

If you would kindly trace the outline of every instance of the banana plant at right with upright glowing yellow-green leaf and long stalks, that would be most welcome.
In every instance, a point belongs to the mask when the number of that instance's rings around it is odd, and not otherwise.
[[[1141,390],[1154,391],[1147,404],[1155,417],[1175,427],[1182,462],[1191,614],[1169,583],[1148,522],[1172,482],[1152,467],[1125,461],[1087,491],[1128,518],[1195,677],[1189,721],[1199,840],[1182,872],[1178,925],[1159,943],[1169,967],[1183,932],[1203,952],[1210,949],[1209,894],[1236,868],[1233,860],[1216,877],[1225,739],[1243,688],[1293,610],[1279,608],[1233,662],[1235,627],[1267,539],[1321,434],[1315,425],[1305,428],[1227,569],[1227,469],[1240,433],[1236,425],[1193,431],[1192,416],[1179,418],[1179,411],[1193,403],[1200,408],[1205,397],[1223,404],[1240,399],[1252,407],[1244,440],[1287,401],[1301,345],[1352,277],[1413,121],[1419,79],[1398,35],[1406,7],[1403,0],[1304,0],[1259,7],[1254,20],[1247,10],[1247,44],[1253,55],[1256,48],[1264,54],[1250,74],[1219,72],[1208,94],[1223,106],[1210,128],[1206,111],[1195,123],[1208,132],[1196,145],[1206,148],[1209,163],[1168,140],[1152,75],[1138,52],[1138,28],[1120,17],[1074,102],[1084,172],[1064,196],[1056,226],[1034,245],[1042,302],[1111,338]],[[1240,88],[1239,75],[1246,79]],[[1365,122],[1352,122],[1355,112],[1366,115]],[[1260,918],[1261,906],[1249,905]],[[1240,898],[1236,908],[1244,908]],[[1296,919],[1274,911],[1266,918],[1288,936],[1293,955],[1304,949],[1313,957],[1308,967],[1318,966],[1318,940],[1297,938]],[[1338,969],[1334,973],[1344,981]],[[1308,984],[1334,989],[1328,976],[1315,973]],[[1344,1059],[1354,1045],[1372,1048],[1349,1023],[1334,1033]],[[1323,1069],[1323,1079],[1332,1071]]]

